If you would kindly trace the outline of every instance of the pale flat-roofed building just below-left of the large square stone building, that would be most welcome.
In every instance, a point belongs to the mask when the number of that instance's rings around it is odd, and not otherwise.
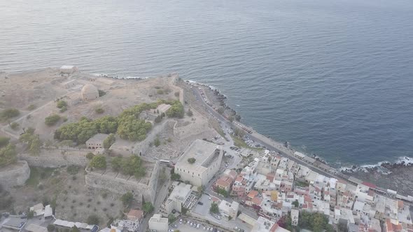
[[[178,184],[175,185],[174,190],[169,194],[169,198],[165,203],[165,210],[167,210],[168,214],[170,214],[172,210],[182,212],[182,205],[190,196],[191,188],[192,185],[182,182],[178,182]]]

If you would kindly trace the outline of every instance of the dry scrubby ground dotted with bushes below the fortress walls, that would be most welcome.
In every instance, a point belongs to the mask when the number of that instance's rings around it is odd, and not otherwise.
[[[101,224],[118,217],[123,210],[119,194],[87,187],[82,167],[72,175],[66,168],[34,168],[23,187],[10,189],[15,212],[27,212],[37,203],[50,203],[56,198],[56,217],[73,222],[85,222],[92,214],[99,216]]]

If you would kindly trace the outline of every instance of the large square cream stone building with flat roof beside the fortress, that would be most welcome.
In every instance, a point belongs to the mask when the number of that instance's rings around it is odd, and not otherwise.
[[[188,161],[190,158],[195,159],[193,164]],[[188,180],[195,186],[207,185],[219,170],[222,159],[221,146],[198,139],[179,158],[175,173],[181,175],[181,180]]]

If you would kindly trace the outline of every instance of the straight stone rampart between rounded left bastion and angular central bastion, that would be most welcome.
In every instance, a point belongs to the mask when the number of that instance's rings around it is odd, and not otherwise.
[[[41,154],[32,156],[30,154],[19,154],[19,159],[27,161],[30,166],[57,168],[60,166],[79,165],[86,166],[86,150],[64,150],[61,149],[42,149]]]

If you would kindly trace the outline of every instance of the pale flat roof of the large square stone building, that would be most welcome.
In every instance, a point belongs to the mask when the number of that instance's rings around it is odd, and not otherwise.
[[[193,168],[194,166],[203,166],[207,168],[209,165],[207,164],[207,159],[215,154],[215,150],[217,148],[221,149],[221,146],[216,145],[215,143],[209,143],[207,141],[197,139],[183,153],[176,165],[188,168]],[[195,163],[189,164],[189,158],[195,158]]]

